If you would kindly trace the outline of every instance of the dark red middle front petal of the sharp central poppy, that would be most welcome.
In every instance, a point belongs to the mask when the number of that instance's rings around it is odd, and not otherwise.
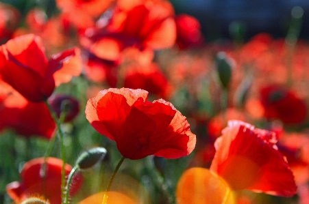
[[[114,136],[121,154],[131,160],[155,154],[166,140],[164,132],[174,115],[164,103],[136,101],[123,123],[123,132]]]

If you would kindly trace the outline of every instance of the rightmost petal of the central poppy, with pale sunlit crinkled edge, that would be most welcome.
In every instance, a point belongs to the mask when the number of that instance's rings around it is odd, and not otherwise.
[[[186,117],[177,111],[176,108],[164,100],[159,102],[170,106],[176,111],[173,120],[171,121],[166,132],[164,132],[164,146],[155,155],[164,158],[180,158],[188,156],[195,149],[196,136],[190,131],[190,124]]]

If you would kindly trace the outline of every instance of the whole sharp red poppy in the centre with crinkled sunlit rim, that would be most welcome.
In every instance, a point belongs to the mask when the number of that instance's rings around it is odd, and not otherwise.
[[[86,118],[99,133],[116,141],[131,160],[149,155],[187,156],[195,148],[190,125],[170,102],[148,102],[143,89],[107,89],[86,104]]]

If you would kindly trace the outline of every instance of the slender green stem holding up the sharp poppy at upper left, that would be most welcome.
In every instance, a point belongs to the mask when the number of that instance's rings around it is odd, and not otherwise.
[[[55,111],[53,111],[53,108],[51,107],[51,105],[49,104],[49,102],[47,102],[47,100],[45,100],[45,104],[47,105],[47,108],[49,109],[49,112],[51,113],[51,117],[53,117],[53,120],[56,123],[57,129],[58,129],[58,136],[59,136],[59,141],[60,141],[60,156],[62,159],[62,169],[61,169],[61,190],[62,192],[65,190],[65,186],[66,186],[66,171],[65,171],[65,164],[66,164],[66,155],[65,155],[65,148],[64,148],[64,142],[63,142],[63,138],[64,138],[64,134],[61,130],[61,123],[60,120],[57,117],[57,114],[55,113]],[[61,194],[62,197],[62,201],[64,200],[64,193]]]

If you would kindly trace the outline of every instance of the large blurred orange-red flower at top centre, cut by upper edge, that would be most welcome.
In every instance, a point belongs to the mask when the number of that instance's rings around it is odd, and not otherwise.
[[[169,48],[176,40],[174,15],[169,1],[117,1],[107,25],[87,29],[80,42],[90,53],[110,61],[118,60],[129,46]]]

